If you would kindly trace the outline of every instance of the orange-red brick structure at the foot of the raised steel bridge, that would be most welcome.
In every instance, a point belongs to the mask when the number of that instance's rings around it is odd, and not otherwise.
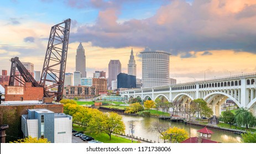
[[[23,88],[23,95],[20,94],[8,94],[8,89],[15,90]],[[25,86],[4,86],[5,89],[5,99],[6,101],[38,101],[42,100],[44,96],[44,89],[43,87],[32,87],[32,83],[25,83]]]

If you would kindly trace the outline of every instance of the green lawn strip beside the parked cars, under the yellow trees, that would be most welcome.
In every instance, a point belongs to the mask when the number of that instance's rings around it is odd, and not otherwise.
[[[80,127],[76,124],[73,124],[73,129],[75,129],[76,131],[84,131],[85,128]],[[95,135],[95,134],[91,134],[91,133],[86,133],[86,131],[84,131],[84,132],[86,135],[92,136],[95,140],[98,140],[98,141],[101,141],[104,143],[131,143],[132,142],[132,140],[118,137],[114,134],[111,135],[111,140],[109,140],[109,136],[107,134]],[[133,141],[133,142],[137,142],[137,141]]]

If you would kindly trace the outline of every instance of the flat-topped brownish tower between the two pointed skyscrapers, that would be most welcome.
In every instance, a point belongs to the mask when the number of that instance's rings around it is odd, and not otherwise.
[[[121,62],[119,60],[110,60],[108,63],[108,88],[111,89],[111,82],[117,80],[117,75],[121,73]]]

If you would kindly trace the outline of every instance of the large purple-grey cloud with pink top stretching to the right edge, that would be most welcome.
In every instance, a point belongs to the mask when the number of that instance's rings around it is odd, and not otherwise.
[[[98,3],[107,2],[114,1]],[[90,41],[100,47],[149,47],[174,55],[208,50],[256,53],[254,4],[255,1],[239,1],[239,5],[229,0],[223,3],[198,0],[192,4],[171,1],[162,5],[153,17],[123,23],[118,23],[121,9],[108,4],[112,7],[100,10],[94,25],[77,27],[77,31],[70,34],[70,41]],[[100,8],[100,4],[97,6]]]

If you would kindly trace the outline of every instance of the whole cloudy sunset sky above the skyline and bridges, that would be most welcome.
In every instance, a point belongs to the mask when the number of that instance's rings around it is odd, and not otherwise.
[[[127,73],[133,48],[137,78],[143,51],[171,53],[177,83],[256,72],[255,0],[34,0],[0,5],[0,70],[13,57],[42,70],[51,26],[71,19],[66,72],[82,42],[87,77],[119,59]],[[1,73],[0,73],[1,74]],[[107,73],[108,75],[108,73]]]

